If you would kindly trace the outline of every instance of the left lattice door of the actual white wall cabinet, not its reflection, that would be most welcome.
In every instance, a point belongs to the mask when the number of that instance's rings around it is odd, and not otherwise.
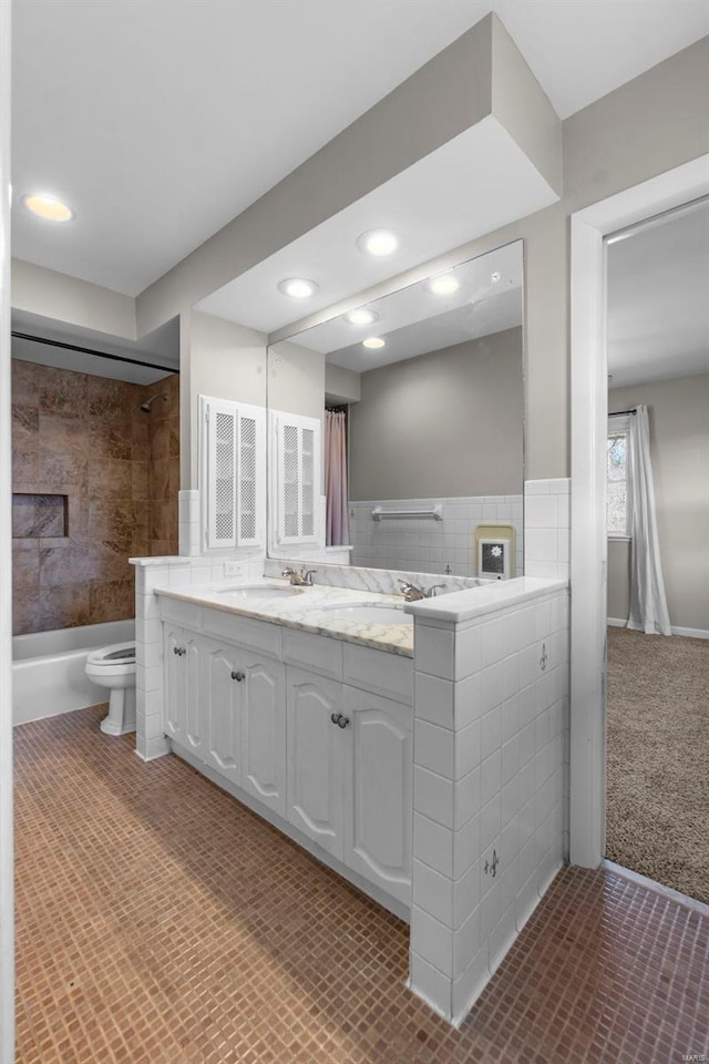
[[[238,415],[233,402],[209,399],[205,403],[207,439],[206,545],[236,546],[236,475]]]

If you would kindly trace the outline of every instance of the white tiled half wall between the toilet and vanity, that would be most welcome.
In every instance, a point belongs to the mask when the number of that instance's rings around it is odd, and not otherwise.
[[[228,573],[232,579],[257,577],[264,573],[263,553],[234,559],[208,555],[131,559],[135,565],[135,751],[145,761],[169,753],[163,700],[163,625],[154,591],[224,580],[227,562],[232,566]]]

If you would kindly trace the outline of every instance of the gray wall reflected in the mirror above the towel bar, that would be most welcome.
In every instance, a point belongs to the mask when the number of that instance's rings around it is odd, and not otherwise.
[[[350,498],[518,494],[522,329],[361,375],[350,408]]]

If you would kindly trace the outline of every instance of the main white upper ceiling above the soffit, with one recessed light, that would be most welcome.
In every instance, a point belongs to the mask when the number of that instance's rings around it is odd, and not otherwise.
[[[140,293],[491,9],[562,117],[709,32],[705,0],[14,0],[14,255]]]

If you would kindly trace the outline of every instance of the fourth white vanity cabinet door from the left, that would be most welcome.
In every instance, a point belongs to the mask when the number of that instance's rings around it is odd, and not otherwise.
[[[285,817],[286,669],[280,662],[242,661],[246,673],[242,786]]]

